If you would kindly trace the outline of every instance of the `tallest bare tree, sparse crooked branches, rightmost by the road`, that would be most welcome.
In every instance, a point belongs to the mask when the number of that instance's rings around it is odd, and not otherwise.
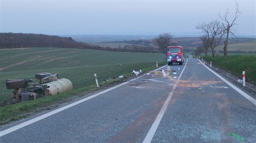
[[[233,36],[235,36],[235,29],[231,29],[232,26],[234,25],[237,25],[237,23],[235,23],[236,19],[242,15],[243,13],[240,11],[240,6],[239,6],[239,3],[236,1],[236,13],[234,15],[234,19],[233,21],[230,23],[228,21],[228,9],[226,10],[226,12],[223,14],[223,16],[221,16],[221,14],[219,13],[219,17],[220,19],[222,19],[224,21],[224,23],[222,23],[223,27],[225,28],[226,30],[226,40],[224,41],[224,47],[223,47],[223,50],[224,50],[224,57],[228,57],[228,53],[227,53],[227,47],[228,47],[228,36],[229,36],[229,33],[231,33]],[[236,36],[235,36],[236,37]]]

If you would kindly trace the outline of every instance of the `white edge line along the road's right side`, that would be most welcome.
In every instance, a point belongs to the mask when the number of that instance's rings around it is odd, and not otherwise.
[[[200,61],[198,59],[198,61]],[[200,61],[202,63],[202,61]],[[203,64],[203,63],[202,63]],[[204,65],[204,64],[203,64]],[[234,86],[232,83],[230,83],[228,80],[222,78],[219,74],[217,74],[215,71],[213,71],[212,69],[210,69],[209,67],[207,67],[206,65],[204,65],[209,71],[211,71],[213,74],[215,74],[217,77],[219,77],[221,80],[223,80],[224,82],[226,82],[226,84],[228,84],[229,86],[231,86],[232,88],[234,88],[234,90],[236,90],[238,93],[240,93],[241,95],[243,95],[243,97],[245,97],[246,99],[248,99],[249,101],[251,101],[254,105],[256,105],[256,100],[253,99],[252,97],[250,97],[249,95],[247,95],[245,92],[243,92],[241,89],[237,88],[236,86]]]

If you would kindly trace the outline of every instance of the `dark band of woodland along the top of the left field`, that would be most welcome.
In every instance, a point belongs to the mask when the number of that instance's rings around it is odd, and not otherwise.
[[[158,48],[154,46],[126,45],[124,47],[110,47],[77,42],[71,37],[49,36],[45,34],[0,33],[0,48],[32,47],[80,48],[122,52],[159,52]]]

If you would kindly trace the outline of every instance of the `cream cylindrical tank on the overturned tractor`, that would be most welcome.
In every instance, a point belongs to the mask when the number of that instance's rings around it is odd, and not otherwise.
[[[45,85],[45,84],[42,84]],[[64,93],[67,91],[72,90],[72,82],[66,78],[61,78],[54,80],[52,82],[49,82],[46,84],[47,86],[50,86],[47,88],[49,90],[50,95],[56,95],[57,93]]]

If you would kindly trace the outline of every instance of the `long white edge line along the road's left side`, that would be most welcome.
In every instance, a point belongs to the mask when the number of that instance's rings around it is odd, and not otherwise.
[[[166,65],[164,65],[163,67],[165,67],[165,66],[166,66]],[[161,68],[163,68],[163,67],[160,67],[160,68],[158,68],[158,69],[155,69],[154,71],[157,71],[157,70],[159,70],[159,69],[161,69]],[[151,71],[150,73],[152,73],[152,72],[154,72],[154,71]],[[54,111],[51,111],[51,112],[49,112],[49,113],[43,114],[43,115],[41,115],[41,116],[39,116],[39,117],[37,117],[37,118],[28,120],[28,121],[26,121],[26,122],[23,122],[23,123],[21,123],[21,124],[18,124],[18,125],[16,125],[16,126],[13,126],[13,127],[11,127],[11,128],[8,128],[8,129],[6,129],[6,130],[3,130],[3,131],[0,132],[0,137],[4,136],[4,135],[6,135],[6,134],[9,134],[10,132],[13,132],[13,131],[15,131],[15,130],[18,130],[18,129],[20,129],[20,128],[23,128],[23,127],[25,127],[25,126],[28,126],[28,125],[30,125],[30,124],[32,124],[32,123],[34,123],[34,122],[37,122],[37,121],[39,121],[39,120],[42,120],[42,119],[47,118],[47,117],[49,117],[49,116],[52,116],[53,114],[59,113],[60,111],[63,111],[63,110],[65,110],[65,109],[68,109],[68,108],[70,108],[70,107],[73,107],[73,106],[75,106],[75,105],[78,105],[78,104],[80,104],[80,103],[82,103],[82,102],[85,102],[85,101],[87,101],[87,100],[89,100],[89,99],[92,99],[92,98],[94,98],[94,97],[97,97],[97,96],[99,96],[99,95],[102,95],[102,94],[104,94],[104,93],[106,93],[106,92],[108,92],[108,91],[110,91],[110,90],[113,90],[113,89],[115,89],[115,88],[118,88],[118,87],[120,87],[120,86],[123,86],[124,84],[127,84],[127,83],[129,83],[129,82],[131,82],[131,81],[133,81],[133,80],[137,80],[138,78],[141,78],[141,77],[143,77],[143,76],[145,76],[145,74],[142,75],[142,76],[139,76],[139,77],[137,77],[137,78],[134,78],[134,79],[132,79],[132,80],[129,80],[129,81],[127,81],[127,82],[124,82],[124,83],[122,83],[122,84],[119,84],[119,85],[117,85],[117,86],[114,86],[114,87],[112,87],[112,88],[106,89],[106,90],[104,90],[104,91],[102,91],[102,92],[100,92],[100,93],[96,93],[95,95],[91,95],[91,96],[89,96],[89,97],[87,97],[87,98],[85,98],[85,99],[81,99],[81,100],[79,100],[79,101],[76,101],[76,102],[74,102],[74,103],[71,103],[71,104],[66,105],[66,106],[64,106],[64,107],[61,107],[61,108],[56,109],[56,110],[54,110]]]

